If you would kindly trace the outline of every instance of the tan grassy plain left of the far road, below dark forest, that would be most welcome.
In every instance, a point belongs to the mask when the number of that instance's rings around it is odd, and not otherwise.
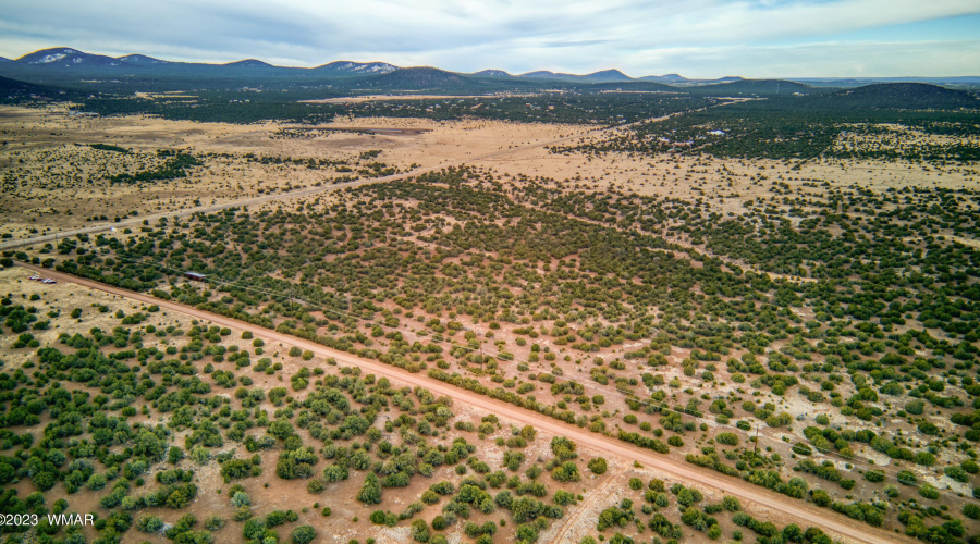
[[[534,146],[584,131],[494,122],[443,126],[402,119],[358,123],[352,129],[350,122],[339,120],[322,125],[322,136],[309,137],[307,129],[301,137],[289,137],[289,125],[83,118],[69,115],[66,110],[4,108],[0,111],[0,134],[19,136],[0,147],[4,193],[0,234],[16,239],[85,227],[93,222],[111,223],[115,218],[327,187],[390,175],[389,170],[429,170],[507,150],[515,143]],[[358,134],[370,132],[373,134]],[[519,139],[512,141],[510,137],[515,135]],[[93,144],[131,152],[96,149]],[[203,164],[194,166],[188,177],[143,184],[109,181],[112,175],[158,166],[162,161],[157,151],[172,149],[188,150]],[[383,154],[362,157],[372,150],[382,150]],[[314,168],[310,159],[316,162]],[[63,198],[65,194],[72,198]]]

